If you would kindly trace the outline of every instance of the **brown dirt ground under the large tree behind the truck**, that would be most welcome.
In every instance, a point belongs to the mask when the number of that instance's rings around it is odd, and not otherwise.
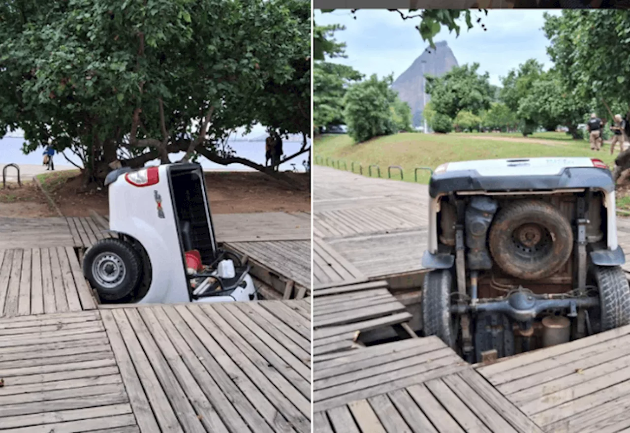
[[[94,209],[101,215],[109,213],[106,189],[79,193],[81,177],[67,177],[57,172],[43,181],[60,211],[66,217],[87,217]],[[72,172],[74,176],[76,172]],[[207,172],[205,183],[212,213],[310,212],[310,177],[287,173],[291,181],[306,189],[294,190],[259,172]],[[33,182],[18,188],[0,189],[0,217],[55,217],[45,196]]]

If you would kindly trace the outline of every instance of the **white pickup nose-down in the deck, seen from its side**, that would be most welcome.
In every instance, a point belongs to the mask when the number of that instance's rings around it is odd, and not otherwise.
[[[83,259],[101,300],[117,303],[249,301],[257,291],[243,259],[217,246],[203,170],[164,164],[108,174],[110,230]],[[186,262],[198,252],[205,269]],[[197,283],[197,284],[195,284]]]

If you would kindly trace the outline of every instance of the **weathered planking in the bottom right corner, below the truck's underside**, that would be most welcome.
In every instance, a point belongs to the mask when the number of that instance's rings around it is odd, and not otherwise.
[[[477,371],[547,432],[630,427],[630,326]]]

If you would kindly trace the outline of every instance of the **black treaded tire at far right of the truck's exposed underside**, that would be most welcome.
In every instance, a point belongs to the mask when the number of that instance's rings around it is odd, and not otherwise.
[[[630,286],[620,266],[595,266],[602,331],[630,324]]]

